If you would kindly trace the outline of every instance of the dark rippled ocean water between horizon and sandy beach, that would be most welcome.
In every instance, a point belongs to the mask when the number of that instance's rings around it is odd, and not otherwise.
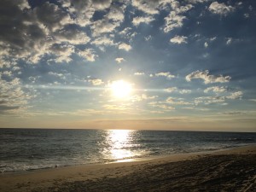
[[[0,172],[109,163],[256,143],[256,133],[0,129]]]

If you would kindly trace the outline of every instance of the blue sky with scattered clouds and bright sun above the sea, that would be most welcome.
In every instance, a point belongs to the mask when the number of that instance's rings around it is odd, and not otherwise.
[[[254,0],[1,0],[0,127],[256,131]]]

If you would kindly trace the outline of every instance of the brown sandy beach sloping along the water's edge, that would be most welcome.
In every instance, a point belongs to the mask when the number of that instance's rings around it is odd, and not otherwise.
[[[256,191],[256,146],[3,173],[0,191]]]

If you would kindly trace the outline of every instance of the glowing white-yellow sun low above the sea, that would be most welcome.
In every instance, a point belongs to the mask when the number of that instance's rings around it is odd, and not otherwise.
[[[124,80],[117,80],[110,84],[110,90],[114,97],[118,99],[127,99],[131,95],[132,86]]]

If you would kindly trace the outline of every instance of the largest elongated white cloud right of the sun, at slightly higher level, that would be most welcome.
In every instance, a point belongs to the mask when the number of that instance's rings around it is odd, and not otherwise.
[[[191,79],[203,79],[205,84],[212,84],[212,83],[227,83],[230,82],[230,76],[223,76],[223,75],[209,75],[209,71],[195,71],[190,73],[186,76],[187,81],[191,81]]]

